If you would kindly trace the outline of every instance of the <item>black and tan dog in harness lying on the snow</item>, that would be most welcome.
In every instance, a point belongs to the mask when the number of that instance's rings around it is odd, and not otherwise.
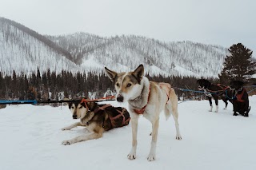
[[[85,140],[93,140],[102,137],[103,132],[111,128],[118,128],[129,124],[130,114],[125,108],[112,105],[98,105],[94,101],[77,101],[69,104],[70,112],[74,119],[80,122],[62,128],[70,130],[77,126],[85,126],[89,131],[86,135],[77,136],[70,140],[64,140],[62,144],[74,144]]]

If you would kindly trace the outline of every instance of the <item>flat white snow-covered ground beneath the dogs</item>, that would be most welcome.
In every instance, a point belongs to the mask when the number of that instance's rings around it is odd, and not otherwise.
[[[110,101],[118,105],[115,101]],[[150,152],[150,122],[139,119],[137,159],[128,160],[131,126],[104,133],[98,140],[62,145],[82,135],[84,128],[62,131],[74,123],[67,106],[10,105],[0,109],[1,170],[84,169],[256,169],[256,96],[250,97],[250,117],[233,117],[232,105],[209,113],[208,101],[178,104],[182,140],[175,140],[172,117],[161,115],[157,160]]]

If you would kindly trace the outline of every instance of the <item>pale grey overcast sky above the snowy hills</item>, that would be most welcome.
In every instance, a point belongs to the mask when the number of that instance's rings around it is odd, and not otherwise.
[[[255,0],[0,0],[0,16],[39,34],[83,31],[230,47],[256,56]]]

